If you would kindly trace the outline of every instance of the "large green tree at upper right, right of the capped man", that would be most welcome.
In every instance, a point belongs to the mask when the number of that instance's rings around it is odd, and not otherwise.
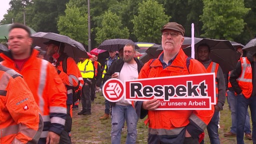
[[[244,7],[243,0],[203,0],[203,22],[201,36],[233,40],[239,35],[245,22],[243,17],[249,11]]]

